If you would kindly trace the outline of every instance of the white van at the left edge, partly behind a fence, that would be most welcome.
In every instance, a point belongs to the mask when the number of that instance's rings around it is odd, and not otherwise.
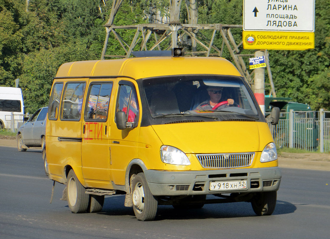
[[[10,114],[14,112],[14,119],[23,119],[24,104],[20,88],[0,86],[0,129],[10,128],[6,126],[6,120],[10,120]],[[16,123],[17,124],[17,123]],[[17,125],[15,128],[18,128]]]

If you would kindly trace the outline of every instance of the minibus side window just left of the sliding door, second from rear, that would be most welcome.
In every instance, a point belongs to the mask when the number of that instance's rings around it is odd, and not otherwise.
[[[61,120],[79,121],[85,82],[67,83],[62,97]]]

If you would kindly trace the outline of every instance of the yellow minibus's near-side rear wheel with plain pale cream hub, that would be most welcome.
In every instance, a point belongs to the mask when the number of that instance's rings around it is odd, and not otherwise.
[[[89,195],[85,194],[85,188],[79,182],[73,169],[69,171],[66,180],[68,205],[72,213],[83,213],[88,208]]]

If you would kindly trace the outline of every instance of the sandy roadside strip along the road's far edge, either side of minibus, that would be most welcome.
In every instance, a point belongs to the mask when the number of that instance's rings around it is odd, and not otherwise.
[[[17,141],[15,139],[0,139],[0,146],[17,147]],[[280,168],[296,168],[296,169],[310,169],[310,170],[322,170],[330,171],[329,161],[315,161],[315,160],[303,160],[303,159],[289,159],[279,157]]]

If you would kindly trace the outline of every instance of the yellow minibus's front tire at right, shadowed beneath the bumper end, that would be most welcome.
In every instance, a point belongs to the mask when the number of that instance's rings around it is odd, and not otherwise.
[[[253,211],[258,216],[272,215],[276,206],[276,198],[276,191],[256,193],[251,201]]]

